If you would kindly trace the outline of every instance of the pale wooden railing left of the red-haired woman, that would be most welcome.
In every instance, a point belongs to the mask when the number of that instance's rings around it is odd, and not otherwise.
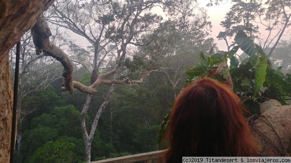
[[[145,161],[145,163],[151,163],[152,159],[158,159],[163,151],[164,150],[158,150],[158,151],[153,151],[153,152],[146,152],[146,153],[134,154],[134,155],[129,155],[129,156],[116,157],[112,159],[99,160],[99,161],[94,161],[91,163],[133,163],[133,162],[138,162],[138,161]]]

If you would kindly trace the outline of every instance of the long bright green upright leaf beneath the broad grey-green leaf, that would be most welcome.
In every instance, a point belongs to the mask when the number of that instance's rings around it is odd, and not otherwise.
[[[255,72],[255,88],[254,88],[254,96],[257,95],[259,89],[263,86],[266,78],[266,69],[267,69],[267,56],[264,55],[264,58],[260,61],[259,65],[256,67]]]

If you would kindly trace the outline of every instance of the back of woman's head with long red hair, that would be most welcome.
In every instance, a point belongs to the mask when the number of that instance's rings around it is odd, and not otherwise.
[[[212,79],[183,89],[166,130],[166,163],[182,156],[255,156],[239,97]],[[178,159],[178,160],[177,160]]]

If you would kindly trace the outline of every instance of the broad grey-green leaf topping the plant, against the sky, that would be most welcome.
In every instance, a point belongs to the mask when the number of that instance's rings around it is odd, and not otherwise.
[[[257,52],[254,40],[248,37],[242,30],[240,30],[234,38],[234,41],[240,45],[242,51],[249,56],[254,56]]]

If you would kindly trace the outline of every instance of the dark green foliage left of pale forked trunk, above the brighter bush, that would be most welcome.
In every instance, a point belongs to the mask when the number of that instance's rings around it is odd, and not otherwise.
[[[73,105],[55,107],[54,109],[49,110],[51,110],[50,114],[42,114],[39,117],[33,118],[31,120],[31,129],[25,130],[23,133],[23,143],[20,154],[22,154],[25,163],[31,162],[33,158],[37,160],[44,157],[43,152],[45,150],[50,150],[48,148],[52,148],[54,146],[58,147],[59,145],[60,148],[63,148],[63,145],[60,144],[59,141],[72,143],[74,147],[71,148],[70,146],[70,148],[66,148],[66,150],[70,149],[73,153],[76,153],[78,157],[83,158],[85,155],[85,149],[83,140],[80,139],[80,112],[77,111]],[[56,140],[59,141],[57,142]],[[50,142],[50,144],[45,146],[45,143],[47,142]],[[38,154],[35,156],[35,151],[37,149],[40,151],[37,151]],[[48,155],[53,154],[49,152],[47,153]],[[49,158],[48,156],[48,162],[51,161],[51,159],[54,158]],[[56,161],[58,161],[58,159]]]

